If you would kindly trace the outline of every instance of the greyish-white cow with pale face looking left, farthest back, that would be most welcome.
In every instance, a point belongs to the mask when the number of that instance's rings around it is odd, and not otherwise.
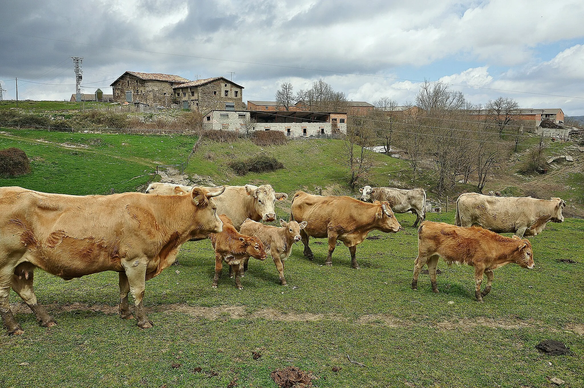
[[[394,189],[391,187],[365,186],[359,189],[361,200],[365,202],[387,201],[394,213],[412,212],[416,214],[413,226],[426,219],[426,190],[424,189]]]

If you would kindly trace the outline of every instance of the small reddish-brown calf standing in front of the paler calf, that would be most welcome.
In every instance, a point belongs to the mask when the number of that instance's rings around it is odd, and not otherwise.
[[[225,214],[219,216],[223,221],[223,231],[221,233],[210,234],[211,244],[215,250],[215,277],[213,278],[213,287],[217,288],[223,261],[230,266],[230,273],[235,276],[235,286],[242,290],[244,287],[239,282],[239,277],[243,273],[244,261],[250,257],[265,260],[267,258],[263,242],[258,237],[249,237],[248,235],[238,233],[231,223],[229,217]]]

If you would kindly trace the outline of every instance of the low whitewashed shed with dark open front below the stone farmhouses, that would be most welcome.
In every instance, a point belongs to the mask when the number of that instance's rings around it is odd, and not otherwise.
[[[326,137],[347,133],[347,113],[211,110],[203,117],[203,129],[236,133],[272,130],[289,137]]]

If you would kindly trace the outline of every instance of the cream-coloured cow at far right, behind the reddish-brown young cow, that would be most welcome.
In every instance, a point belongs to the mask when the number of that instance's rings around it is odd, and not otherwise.
[[[563,222],[560,198],[493,197],[478,193],[463,193],[456,200],[457,226],[479,224],[496,233],[515,233],[519,237],[534,237],[544,230],[548,221]]]

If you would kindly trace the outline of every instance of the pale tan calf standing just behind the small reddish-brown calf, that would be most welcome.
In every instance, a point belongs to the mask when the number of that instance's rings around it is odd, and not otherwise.
[[[266,245],[266,249],[270,251],[270,255],[274,259],[274,264],[280,273],[280,284],[286,286],[286,279],[284,278],[284,260],[290,257],[292,253],[292,245],[294,242],[300,241],[300,230],[307,225],[306,221],[300,224],[296,221],[286,222],[280,220],[281,227],[271,225],[264,225],[253,220],[245,220],[241,226],[241,233],[247,235],[254,235]],[[248,270],[248,259],[244,262],[244,271]]]

